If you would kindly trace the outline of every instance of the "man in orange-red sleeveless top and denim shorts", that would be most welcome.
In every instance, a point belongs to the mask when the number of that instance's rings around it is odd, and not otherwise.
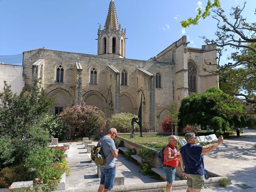
[[[176,167],[179,164],[179,154],[175,148],[178,144],[178,140],[175,135],[169,136],[169,143],[164,149],[164,165],[163,169],[166,173],[166,192],[171,192],[173,187],[173,182],[176,176]]]

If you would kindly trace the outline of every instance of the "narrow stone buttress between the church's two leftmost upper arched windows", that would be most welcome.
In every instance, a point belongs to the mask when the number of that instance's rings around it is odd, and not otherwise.
[[[76,105],[82,104],[82,73],[83,69],[80,63],[76,62],[77,67],[77,83],[76,83],[76,93],[75,93],[75,100]]]

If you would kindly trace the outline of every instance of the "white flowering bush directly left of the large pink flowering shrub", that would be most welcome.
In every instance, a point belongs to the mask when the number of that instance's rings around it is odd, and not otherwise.
[[[62,118],[59,115],[46,115],[43,118],[41,127],[46,128],[52,138],[58,138],[59,141],[67,140],[69,129],[65,122],[62,121]]]

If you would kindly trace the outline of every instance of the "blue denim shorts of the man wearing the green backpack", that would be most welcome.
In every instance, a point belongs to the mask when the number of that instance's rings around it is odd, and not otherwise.
[[[112,189],[114,186],[114,180],[116,176],[116,167],[101,170],[101,184],[105,185],[104,189]]]

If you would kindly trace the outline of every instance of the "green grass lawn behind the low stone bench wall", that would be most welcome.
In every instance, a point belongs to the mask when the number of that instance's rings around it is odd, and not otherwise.
[[[168,135],[144,135],[143,137],[135,135],[135,138],[130,138],[129,135],[120,135],[120,137],[123,137],[125,139],[131,140],[135,143],[138,143],[140,145],[155,149],[160,151],[163,149],[164,146],[168,144]],[[183,136],[179,136],[179,139],[184,139]],[[178,148],[180,148],[181,145],[178,142]]]

